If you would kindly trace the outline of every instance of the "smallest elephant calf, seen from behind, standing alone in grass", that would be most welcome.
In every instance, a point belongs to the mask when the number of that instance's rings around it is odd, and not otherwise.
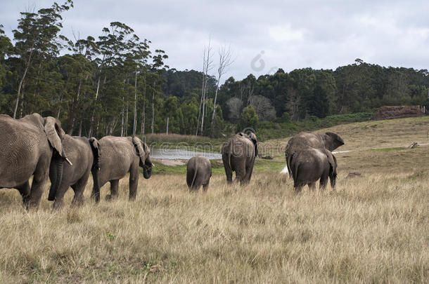
[[[189,190],[198,190],[203,186],[206,191],[212,176],[212,164],[204,156],[195,156],[188,160],[186,167],[186,184]]]

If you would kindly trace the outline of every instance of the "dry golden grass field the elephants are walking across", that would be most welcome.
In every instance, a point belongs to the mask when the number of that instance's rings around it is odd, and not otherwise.
[[[429,147],[403,148],[428,124],[333,128],[361,149],[336,155],[335,191],[295,194],[280,154],[257,160],[248,187],[228,187],[214,161],[208,191],[191,194],[184,166],[157,165],[134,202],[122,180],[95,205],[89,182],[82,208],[70,189],[58,212],[47,192],[28,213],[2,189],[0,283],[428,283]]]

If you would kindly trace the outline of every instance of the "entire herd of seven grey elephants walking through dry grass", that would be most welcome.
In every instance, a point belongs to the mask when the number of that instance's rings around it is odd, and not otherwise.
[[[58,119],[30,114],[12,119],[0,114],[0,188],[18,189],[25,208],[37,210],[46,182],[51,180],[49,201],[53,208],[63,205],[69,187],[75,191],[72,204],[82,205],[89,174],[94,180],[91,198],[100,200],[100,188],[110,182],[107,200],[117,198],[119,180],[129,173],[129,200],[134,200],[139,184],[139,168],[143,177],[152,175],[153,163],[148,145],[138,137],[105,136],[75,137],[64,133]],[[337,161],[332,152],[344,144],[335,133],[299,133],[289,140],[286,163],[296,191],[317,180],[326,187],[328,178],[335,187]],[[248,184],[258,154],[255,133],[238,133],[222,147],[228,184]],[[235,180],[232,179],[236,173]],[[212,166],[203,156],[188,160],[186,183],[189,189],[204,190],[210,182]],[[33,177],[30,187],[30,177]]]

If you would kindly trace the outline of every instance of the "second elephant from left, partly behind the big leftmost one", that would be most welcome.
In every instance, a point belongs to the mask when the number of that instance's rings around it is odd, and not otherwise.
[[[87,186],[89,174],[93,167],[98,167],[100,147],[98,140],[91,137],[78,137],[66,134],[63,149],[73,165],[63,163],[58,154],[53,154],[49,168],[49,201],[54,201],[53,208],[63,206],[63,197],[69,187],[75,191],[72,205],[84,203],[84,189]]]

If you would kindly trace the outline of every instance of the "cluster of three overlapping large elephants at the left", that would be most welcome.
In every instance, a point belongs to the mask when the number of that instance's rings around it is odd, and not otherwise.
[[[91,197],[100,200],[100,187],[110,182],[106,199],[118,196],[119,180],[129,173],[129,199],[136,198],[139,166],[143,177],[152,175],[150,150],[138,137],[74,137],[64,133],[58,119],[30,114],[22,119],[0,115],[0,188],[20,192],[25,208],[39,207],[48,178],[49,201],[63,205],[65,191],[72,187],[72,203],[84,202],[89,173],[94,187]],[[33,176],[30,187],[30,177]]]

